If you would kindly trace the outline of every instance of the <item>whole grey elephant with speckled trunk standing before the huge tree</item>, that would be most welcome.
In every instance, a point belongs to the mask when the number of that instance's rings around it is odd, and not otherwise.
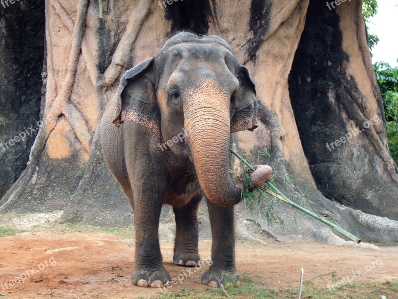
[[[198,265],[203,195],[212,247],[201,282],[239,284],[233,206],[241,201],[241,189],[229,174],[230,134],[256,127],[255,82],[218,36],[179,32],[124,73],[102,116],[100,143],[134,212],[133,285],[155,288],[170,280],[159,245],[163,204],[172,205],[175,215],[173,262]],[[269,180],[267,167],[252,173],[254,185]]]

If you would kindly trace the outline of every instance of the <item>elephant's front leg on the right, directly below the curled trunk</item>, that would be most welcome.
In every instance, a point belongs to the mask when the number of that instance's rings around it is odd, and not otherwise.
[[[202,274],[201,281],[210,287],[224,288],[239,284],[235,267],[235,236],[233,207],[220,207],[207,199],[211,225],[211,260],[209,269]]]

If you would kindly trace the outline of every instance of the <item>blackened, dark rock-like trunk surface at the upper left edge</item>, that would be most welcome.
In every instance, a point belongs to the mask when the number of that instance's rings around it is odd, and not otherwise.
[[[31,125],[36,129],[39,120],[45,24],[44,0],[4,5],[0,5],[0,198],[25,169],[37,134],[28,129],[27,135],[25,130]]]

